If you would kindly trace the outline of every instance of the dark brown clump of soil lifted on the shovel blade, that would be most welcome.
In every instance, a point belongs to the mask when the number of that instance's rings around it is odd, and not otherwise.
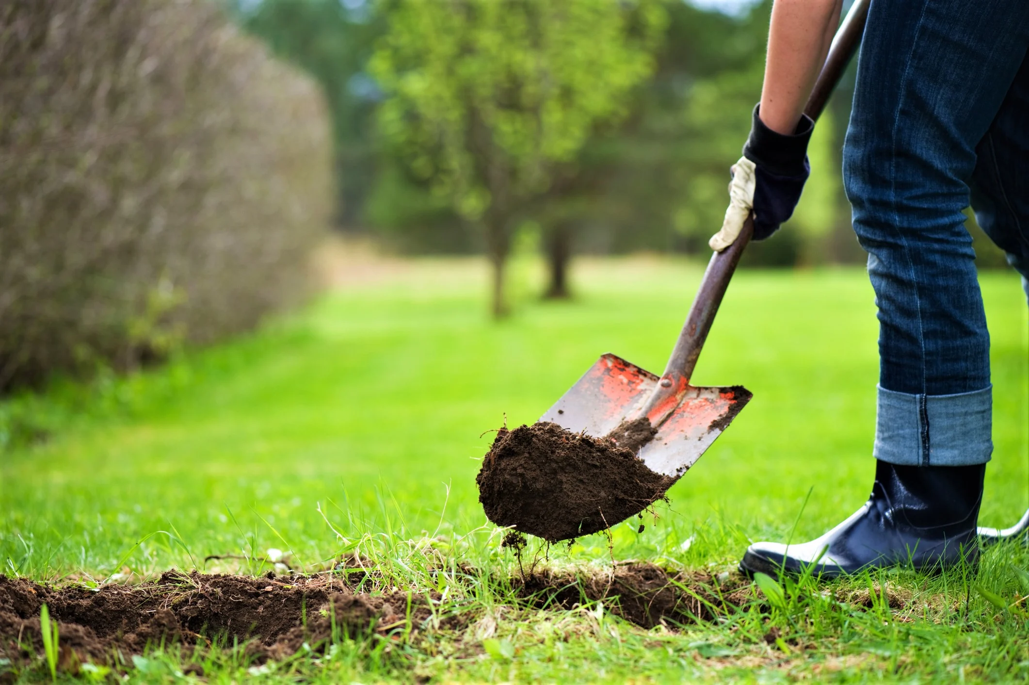
[[[475,478],[478,501],[497,525],[548,542],[609,528],[664,499],[675,482],[636,456],[644,433],[625,426],[615,443],[546,421],[501,429]]]

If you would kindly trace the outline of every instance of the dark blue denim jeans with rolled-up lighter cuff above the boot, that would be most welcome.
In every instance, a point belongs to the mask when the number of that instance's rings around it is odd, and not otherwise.
[[[962,211],[1029,296],[1029,0],[873,0],[844,148],[879,308],[874,454],[993,451],[990,337]]]

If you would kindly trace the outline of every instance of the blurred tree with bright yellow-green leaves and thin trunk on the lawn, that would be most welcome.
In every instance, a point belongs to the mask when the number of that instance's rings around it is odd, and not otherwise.
[[[381,132],[484,235],[502,316],[516,219],[573,173],[599,123],[627,113],[653,69],[662,3],[396,0],[386,16],[369,64]]]

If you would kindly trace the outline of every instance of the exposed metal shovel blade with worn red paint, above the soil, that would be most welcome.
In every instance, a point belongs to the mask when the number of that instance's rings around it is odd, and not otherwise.
[[[649,371],[615,354],[604,354],[539,420],[599,438],[623,420],[640,416],[658,382],[659,377]],[[640,450],[640,458],[651,471],[678,478],[721,435],[750,397],[739,385],[685,385],[679,405]]]

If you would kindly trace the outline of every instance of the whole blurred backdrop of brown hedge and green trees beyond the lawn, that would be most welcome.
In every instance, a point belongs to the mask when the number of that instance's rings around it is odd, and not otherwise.
[[[497,314],[512,251],[542,252],[556,298],[576,253],[706,259],[771,0],[711,5],[0,3],[0,390],[249,329],[310,293],[329,227],[487,254]],[[794,218],[745,265],[863,261],[840,170],[852,82]]]

